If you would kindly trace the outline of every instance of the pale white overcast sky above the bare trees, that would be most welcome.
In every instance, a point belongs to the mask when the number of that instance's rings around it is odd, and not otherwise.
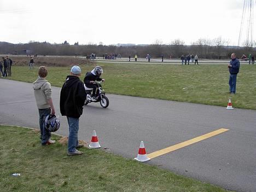
[[[0,0],[0,42],[237,45],[242,10],[243,0]]]

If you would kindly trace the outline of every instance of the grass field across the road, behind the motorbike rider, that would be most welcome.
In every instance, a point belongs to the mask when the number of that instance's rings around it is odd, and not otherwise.
[[[235,108],[256,109],[256,65],[241,65],[237,93],[228,94],[229,72],[226,65],[154,65],[100,63],[104,89],[109,94],[130,95],[162,100],[226,106],[229,98]],[[92,65],[82,66],[83,75]],[[49,67],[48,80],[62,86],[70,67]],[[13,67],[11,79],[33,82],[37,68]],[[184,88],[184,89],[183,89]]]

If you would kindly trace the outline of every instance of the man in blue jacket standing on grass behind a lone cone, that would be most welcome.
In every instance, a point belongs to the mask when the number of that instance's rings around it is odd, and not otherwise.
[[[236,54],[232,53],[231,54],[231,61],[228,65],[229,68],[229,92],[230,94],[235,94],[236,93],[236,76],[237,73],[239,72],[240,68],[240,61],[236,59]]]

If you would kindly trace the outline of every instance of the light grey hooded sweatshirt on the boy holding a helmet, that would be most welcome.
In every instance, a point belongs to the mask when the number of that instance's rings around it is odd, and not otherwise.
[[[38,109],[50,108],[47,100],[51,98],[51,84],[48,80],[38,77],[38,79],[33,83],[33,89]]]

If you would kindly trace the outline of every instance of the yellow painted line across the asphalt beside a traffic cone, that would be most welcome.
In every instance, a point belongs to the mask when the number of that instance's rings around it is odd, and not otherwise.
[[[148,158],[153,159],[157,156],[164,155],[166,153],[173,152],[174,150],[181,149],[183,147],[189,146],[190,144],[197,143],[199,141],[202,141],[204,139],[219,135],[220,133],[223,133],[225,131],[228,131],[229,129],[220,128],[216,131],[212,131],[210,133],[206,133],[205,135],[201,135],[199,137],[195,137],[193,139],[189,139],[188,141],[184,141],[182,143],[175,144],[174,146],[167,147],[165,149],[158,150],[156,152],[150,153],[147,155]]]

